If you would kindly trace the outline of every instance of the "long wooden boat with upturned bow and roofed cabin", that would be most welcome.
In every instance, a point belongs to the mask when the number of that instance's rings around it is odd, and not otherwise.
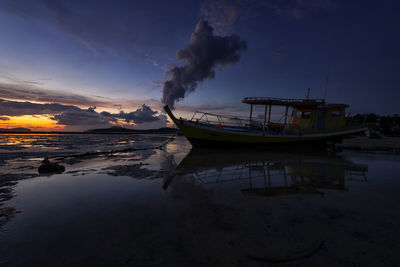
[[[343,136],[362,133],[367,127],[346,118],[347,104],[327,104],[324,99],[246,97],[247,119],[195,112],[191,119],[176,118],[168,105],[164,110],[193,146],[278,146],[341,142]],[[253,118],[253,107],[264,106],[263,121]],[[283,122],[271,121],[273,106],[284,107]],[[289,110],[291,111],[289,115]],[[197,117],[196,117],[197,116]]]

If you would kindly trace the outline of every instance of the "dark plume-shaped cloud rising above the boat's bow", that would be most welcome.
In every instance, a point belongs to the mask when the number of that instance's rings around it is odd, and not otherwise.
[[[197,83],[214,79],[215,68],[235,64],[240,52],[247,49],[246,42],[236,35],[215,36],[214,29],[200,20],[185,49],[178,50],[176,57],[186,61],[182,67],[173,67],[172,78],[164,83],[162,102],[174,107],[175,101],[196,89]]]

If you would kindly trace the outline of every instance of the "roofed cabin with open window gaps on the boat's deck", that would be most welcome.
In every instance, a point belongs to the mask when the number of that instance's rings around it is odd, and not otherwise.
[[[332,132],[346,127],[346,104],[326,104],[324,99],[288,99],[269,97],[247,97],[243,103],[250,104],[250,125],[253,121],[253,105],[264,105],[263,131],[267,127],[281,127],[285,133]],[[284,106],[283,123],[271,122],[271,107]],[[288,110],[291,116],[288,118]],[[267,116],[268,114],[268,116]]]

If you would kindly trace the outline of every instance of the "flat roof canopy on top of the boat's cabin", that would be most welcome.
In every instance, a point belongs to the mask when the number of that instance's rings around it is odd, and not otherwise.
[[[290,106],[299,109],[336,109],[347,108],[346,104],[325,104],[325,99],[246,97],[242,100],[251,105]]]

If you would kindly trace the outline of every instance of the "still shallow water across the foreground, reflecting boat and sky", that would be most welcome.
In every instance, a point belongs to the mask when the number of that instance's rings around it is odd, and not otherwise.
[[[67,152],[117,150],[121,139],[124,148],[145,149],[59,159],[65,173],[38,176],[37,155],[60,156],[72,142],[40,138],[2,151],[1,266],[400,264],[398,155],[202,150],[180,136],[93,136]],[[46,142],[61,148],[37,146]]]

